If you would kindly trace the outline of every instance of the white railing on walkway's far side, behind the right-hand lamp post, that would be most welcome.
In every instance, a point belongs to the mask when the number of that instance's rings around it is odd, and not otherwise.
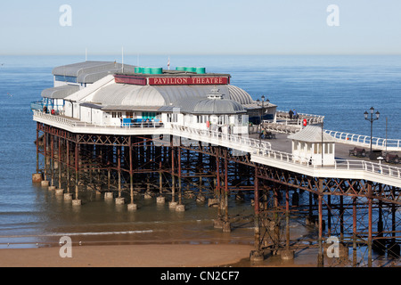
[[[371,144],[371,137],[363,134],[349,134],[338,131],[324,130],[326,134],[330,134],[332,137],[340,142],[358,144],[369,147]],[[380,137],[372,137],[372,147],[376,149],[389,151],[401,151],[401,140],[386,140]]]

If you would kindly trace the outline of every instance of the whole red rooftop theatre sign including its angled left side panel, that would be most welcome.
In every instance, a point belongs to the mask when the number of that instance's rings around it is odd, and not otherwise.
[[[227,85],[229,77],[135,77],[115,75],[116,83],[131,85]]]

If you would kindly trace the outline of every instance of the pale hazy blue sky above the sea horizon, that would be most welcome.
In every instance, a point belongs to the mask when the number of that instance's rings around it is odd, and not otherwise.
[[[3,55],[400,54],[400,36],[400,0],[0,3]]]

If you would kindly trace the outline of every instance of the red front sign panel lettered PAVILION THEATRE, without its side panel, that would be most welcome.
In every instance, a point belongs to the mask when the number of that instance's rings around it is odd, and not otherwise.
[[[228,77],[149,77],[148,85],[227,85]]]

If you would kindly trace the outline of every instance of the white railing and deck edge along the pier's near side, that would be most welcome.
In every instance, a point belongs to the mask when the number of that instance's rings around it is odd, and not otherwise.
[[[313,177],[331,177],[348,179],[366,179],[376,183],[386,183],[390,186],[401,187],[401,167],[386,163],[371,162],[364,158],[349,157],[352,144],[336,142],[334,166],[309,166],[305,161],[291,154],[289,134],[276,134],[276,139],[259,140],[258,134],[222,134],[215,131],[201,130],[191,126],[171,124],[165,126],[94,126],[77,120],[34,112],[34,120],[48,126],[58,127],[74,134],[108,134],[108,135],[151,135],[153,140],[163,135],[173,135],[186,138],[192,142],[210,143],[237,151],[249,152],[251,161],[261,165],[278,167],[302,175]],[[168,142],[169,144],[169,142]],[[357,145],[357,144],[356,144]],[[401,203],[401,201],[398,201]]]

